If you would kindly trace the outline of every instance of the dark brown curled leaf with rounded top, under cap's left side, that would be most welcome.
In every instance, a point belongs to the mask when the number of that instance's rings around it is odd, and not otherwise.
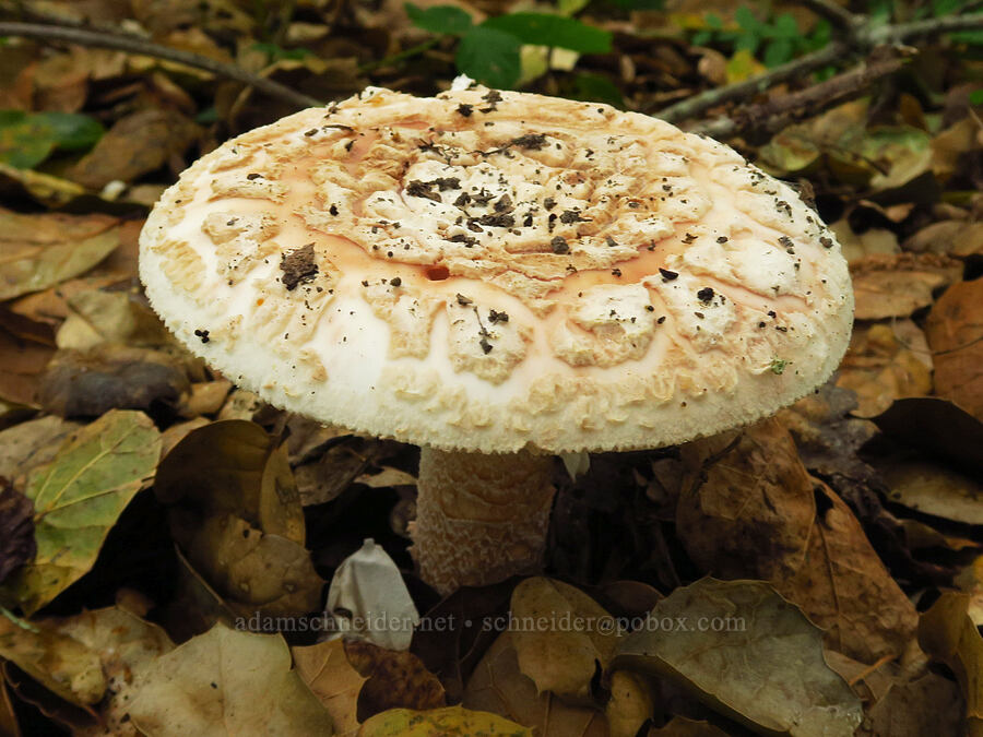
[[[187,497],[208,515],[240,516],[265,534],[305,544],[286,449],[253,423],[222,420],[191,430],[161,462],[154,491],[165,504]]]

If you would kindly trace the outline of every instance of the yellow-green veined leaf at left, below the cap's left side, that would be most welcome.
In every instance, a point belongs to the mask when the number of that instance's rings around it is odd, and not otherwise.
[[[0,598],[29,615],[87,573],[159,452],[161,433],[140,412],[114,409],[70,437],[27,480],[37,556],[0,587]]]

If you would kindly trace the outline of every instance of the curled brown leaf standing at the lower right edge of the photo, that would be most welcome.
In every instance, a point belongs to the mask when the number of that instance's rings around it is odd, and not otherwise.
[[[941,661],[962,688],[967,734],[983,735],[983,637],[969,615],[970,594],[946,592],[919,622],[919,644]]]

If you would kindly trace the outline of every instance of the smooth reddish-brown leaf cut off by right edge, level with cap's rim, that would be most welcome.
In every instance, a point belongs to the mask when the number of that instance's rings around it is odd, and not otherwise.
[[[960,282],[939,297],[925,324],[935,359],[935,391],[983,419],[983,280]]]

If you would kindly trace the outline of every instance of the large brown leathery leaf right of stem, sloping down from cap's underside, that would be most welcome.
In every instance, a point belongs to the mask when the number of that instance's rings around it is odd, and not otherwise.
[[[865,663],[900,655],[917,615],[845,503],[806,473],[778,419],[683,447],[694,490],[677,507],[687,552],[713,575],[763,579]],[[703,478],[702,484],[699,479]]]

